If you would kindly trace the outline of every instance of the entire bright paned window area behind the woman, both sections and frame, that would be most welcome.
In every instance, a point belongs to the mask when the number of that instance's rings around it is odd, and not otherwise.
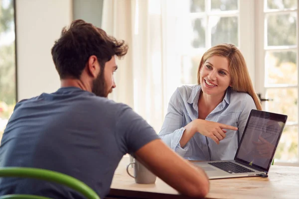
[[[263,109],[288,115],[276,164],[299,163],[297,0],[177,0],[180,84],[196,84],[202,54],[227,42],[243,53]]]

